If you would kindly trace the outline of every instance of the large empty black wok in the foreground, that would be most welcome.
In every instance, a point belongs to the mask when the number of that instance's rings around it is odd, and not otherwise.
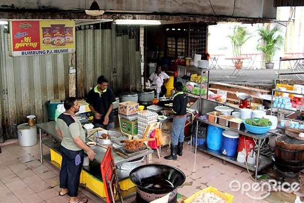
[[[134,168],[130,180],[149,194],[166,194],[185,182],[185,175],[170,165],[147,164]]]

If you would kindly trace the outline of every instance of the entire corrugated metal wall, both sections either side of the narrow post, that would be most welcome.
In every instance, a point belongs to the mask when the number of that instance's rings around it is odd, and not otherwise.
[[[110,80],[117,95],[140,90],[140,51],[135,49],[135,40],[129,38],[117,37],[115,28],[77,31],[78,98],[86,97],[100,75]],[[47,101],[69,96],[71,64],[68,54],[10,57],[3,25],[0,39],[0,143],[3,143],[18,138],[17,126],[27,122],[27,115],[35,115],[36,123],[48,121]]]

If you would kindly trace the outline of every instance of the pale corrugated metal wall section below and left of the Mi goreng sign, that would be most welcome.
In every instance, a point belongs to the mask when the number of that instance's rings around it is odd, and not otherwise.
[[[0,143],[16,139],[17,126],[35,115],[47,122],[47,101],[68,96],[68,55],[10,57],[0,26]]]

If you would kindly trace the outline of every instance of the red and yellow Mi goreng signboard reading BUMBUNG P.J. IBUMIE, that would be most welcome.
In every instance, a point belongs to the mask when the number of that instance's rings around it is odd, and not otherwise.
[[[75,52],[75,21],[10,21],[10,56],[35,56]]]

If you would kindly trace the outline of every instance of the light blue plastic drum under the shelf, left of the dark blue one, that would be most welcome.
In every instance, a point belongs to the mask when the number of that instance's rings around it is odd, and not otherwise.
[[[223,128],[216,127],[213,125],[208,125],[207,128],[207,147],[212,150],[219,150]]]

